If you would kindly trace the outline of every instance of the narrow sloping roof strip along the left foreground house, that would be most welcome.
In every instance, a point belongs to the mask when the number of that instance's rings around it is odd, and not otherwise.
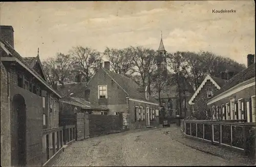
[[[3,39],[0,39],[0,41],[1,41],[3,44],[5,44],[5,47],[6,47],[6,48],[8,49],[8,51],[12,54],[10,57],[15,57],[15,58],[17,58],[20,62],[22,62],[23,64],[25,64],[31,71],[33,71],[33,72],[36,74],[36,76],[37,76],[38,78],[40,78],[40,79],[43,80],[43,81],[45,80],[45,79],[43,79],[43,78],[40,76],[40,74],[38,74],[33,68],[31,68],[30,65],[29,65],[26,61],[24,61],[23,57],[22,57],[16,50],[14,50],[14,49],[11,47],[10,44],[8,44],[7,42],[5,42]],[[50,85],[49,85],[47,82],[45,82],[45,84],[50,87]]]

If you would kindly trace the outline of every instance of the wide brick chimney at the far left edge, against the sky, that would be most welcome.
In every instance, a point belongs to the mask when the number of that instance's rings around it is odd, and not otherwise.
[[[0,27],[1,39],[8,42],[14,49],[13,32],[13,27],[11,25],[1,25]]]

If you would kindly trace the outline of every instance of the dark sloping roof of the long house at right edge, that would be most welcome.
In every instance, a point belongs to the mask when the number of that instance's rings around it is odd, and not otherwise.
[[[248,68],[244,69],[237,75],[234,75],[230,80],[228,80],[226,85],[224,85],[219,91],[216,92],[215,96],[253,77],[255,77],[255,63],[250,65]],[[215,96],[213,96],[212,98],[214,98]]]

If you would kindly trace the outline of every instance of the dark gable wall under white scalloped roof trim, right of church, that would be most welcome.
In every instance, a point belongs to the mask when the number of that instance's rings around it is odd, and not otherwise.
[[[212,84],[211,81],[206,81],[205,85],[194,99],[194,110],[196,111],[195,116],[197,119],[206,118],[207,101],[209,100],[207,98],[208,90],[212,90],[213,94],[215,94],[218,91],[217,87],[214,84]]]

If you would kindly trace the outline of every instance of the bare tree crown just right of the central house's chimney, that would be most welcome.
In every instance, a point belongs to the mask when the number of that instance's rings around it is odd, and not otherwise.
[[[134,73],[131,48],[106,48],[103,54],[109,59],[111,68],[118,74],[130,76]]]

